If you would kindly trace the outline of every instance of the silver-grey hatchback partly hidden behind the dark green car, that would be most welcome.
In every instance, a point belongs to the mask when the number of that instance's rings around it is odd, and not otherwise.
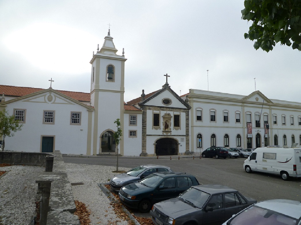
[[[118,192],[121,187],[140,181],[141,179],[155,172],[172,172],[172,170],[168,166],[161,165],[137,166],[128,172],[112,177],[110,179],[111,189]]]

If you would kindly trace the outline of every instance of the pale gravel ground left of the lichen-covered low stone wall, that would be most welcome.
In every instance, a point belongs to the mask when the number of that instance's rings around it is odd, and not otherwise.
[[[45,171],[39,166],[5,166],[0,178],[0,225],[28,225],[35,213],[35,174]]]

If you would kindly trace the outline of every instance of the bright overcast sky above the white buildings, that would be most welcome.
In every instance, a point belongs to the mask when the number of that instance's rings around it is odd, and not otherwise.
[[[0,0],[0,84],[90,92],[93,51],[124,48],[125,101],[168,83],[301,102],[301,52],[244,39],[243,0]],[[208,80],[207,80],[207,70]],[[254,78],[256,78],[254,80]]]

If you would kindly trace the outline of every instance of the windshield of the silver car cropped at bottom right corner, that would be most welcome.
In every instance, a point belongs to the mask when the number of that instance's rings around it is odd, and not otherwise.
[[[281,224],[296,225],[298,219],[258,206],[252,206],[238,214],[228,225]]]

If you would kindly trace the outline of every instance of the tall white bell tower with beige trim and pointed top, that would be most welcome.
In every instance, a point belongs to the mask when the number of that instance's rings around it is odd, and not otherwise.
[[[95,108],[92,120],[92,148],[93,154],[104,153],[101,136],[105,132],[116,131],[114,121],[120,119],[123,129],[123,105],[124,105],[124,65],[126,58],[124,51],[117,55],[113,38],[108,35],[104,38],[101,49],[90,61],[91,69],[91,105]],[[122,138],[123,139],[123,138]],[[113,149],[112,149],[113,148]],[[114,151],[114,143],[109,147]],[[116,147],[117,149],[117,147]],[[120,154],[123,155],[123,141],[119,144]]]

